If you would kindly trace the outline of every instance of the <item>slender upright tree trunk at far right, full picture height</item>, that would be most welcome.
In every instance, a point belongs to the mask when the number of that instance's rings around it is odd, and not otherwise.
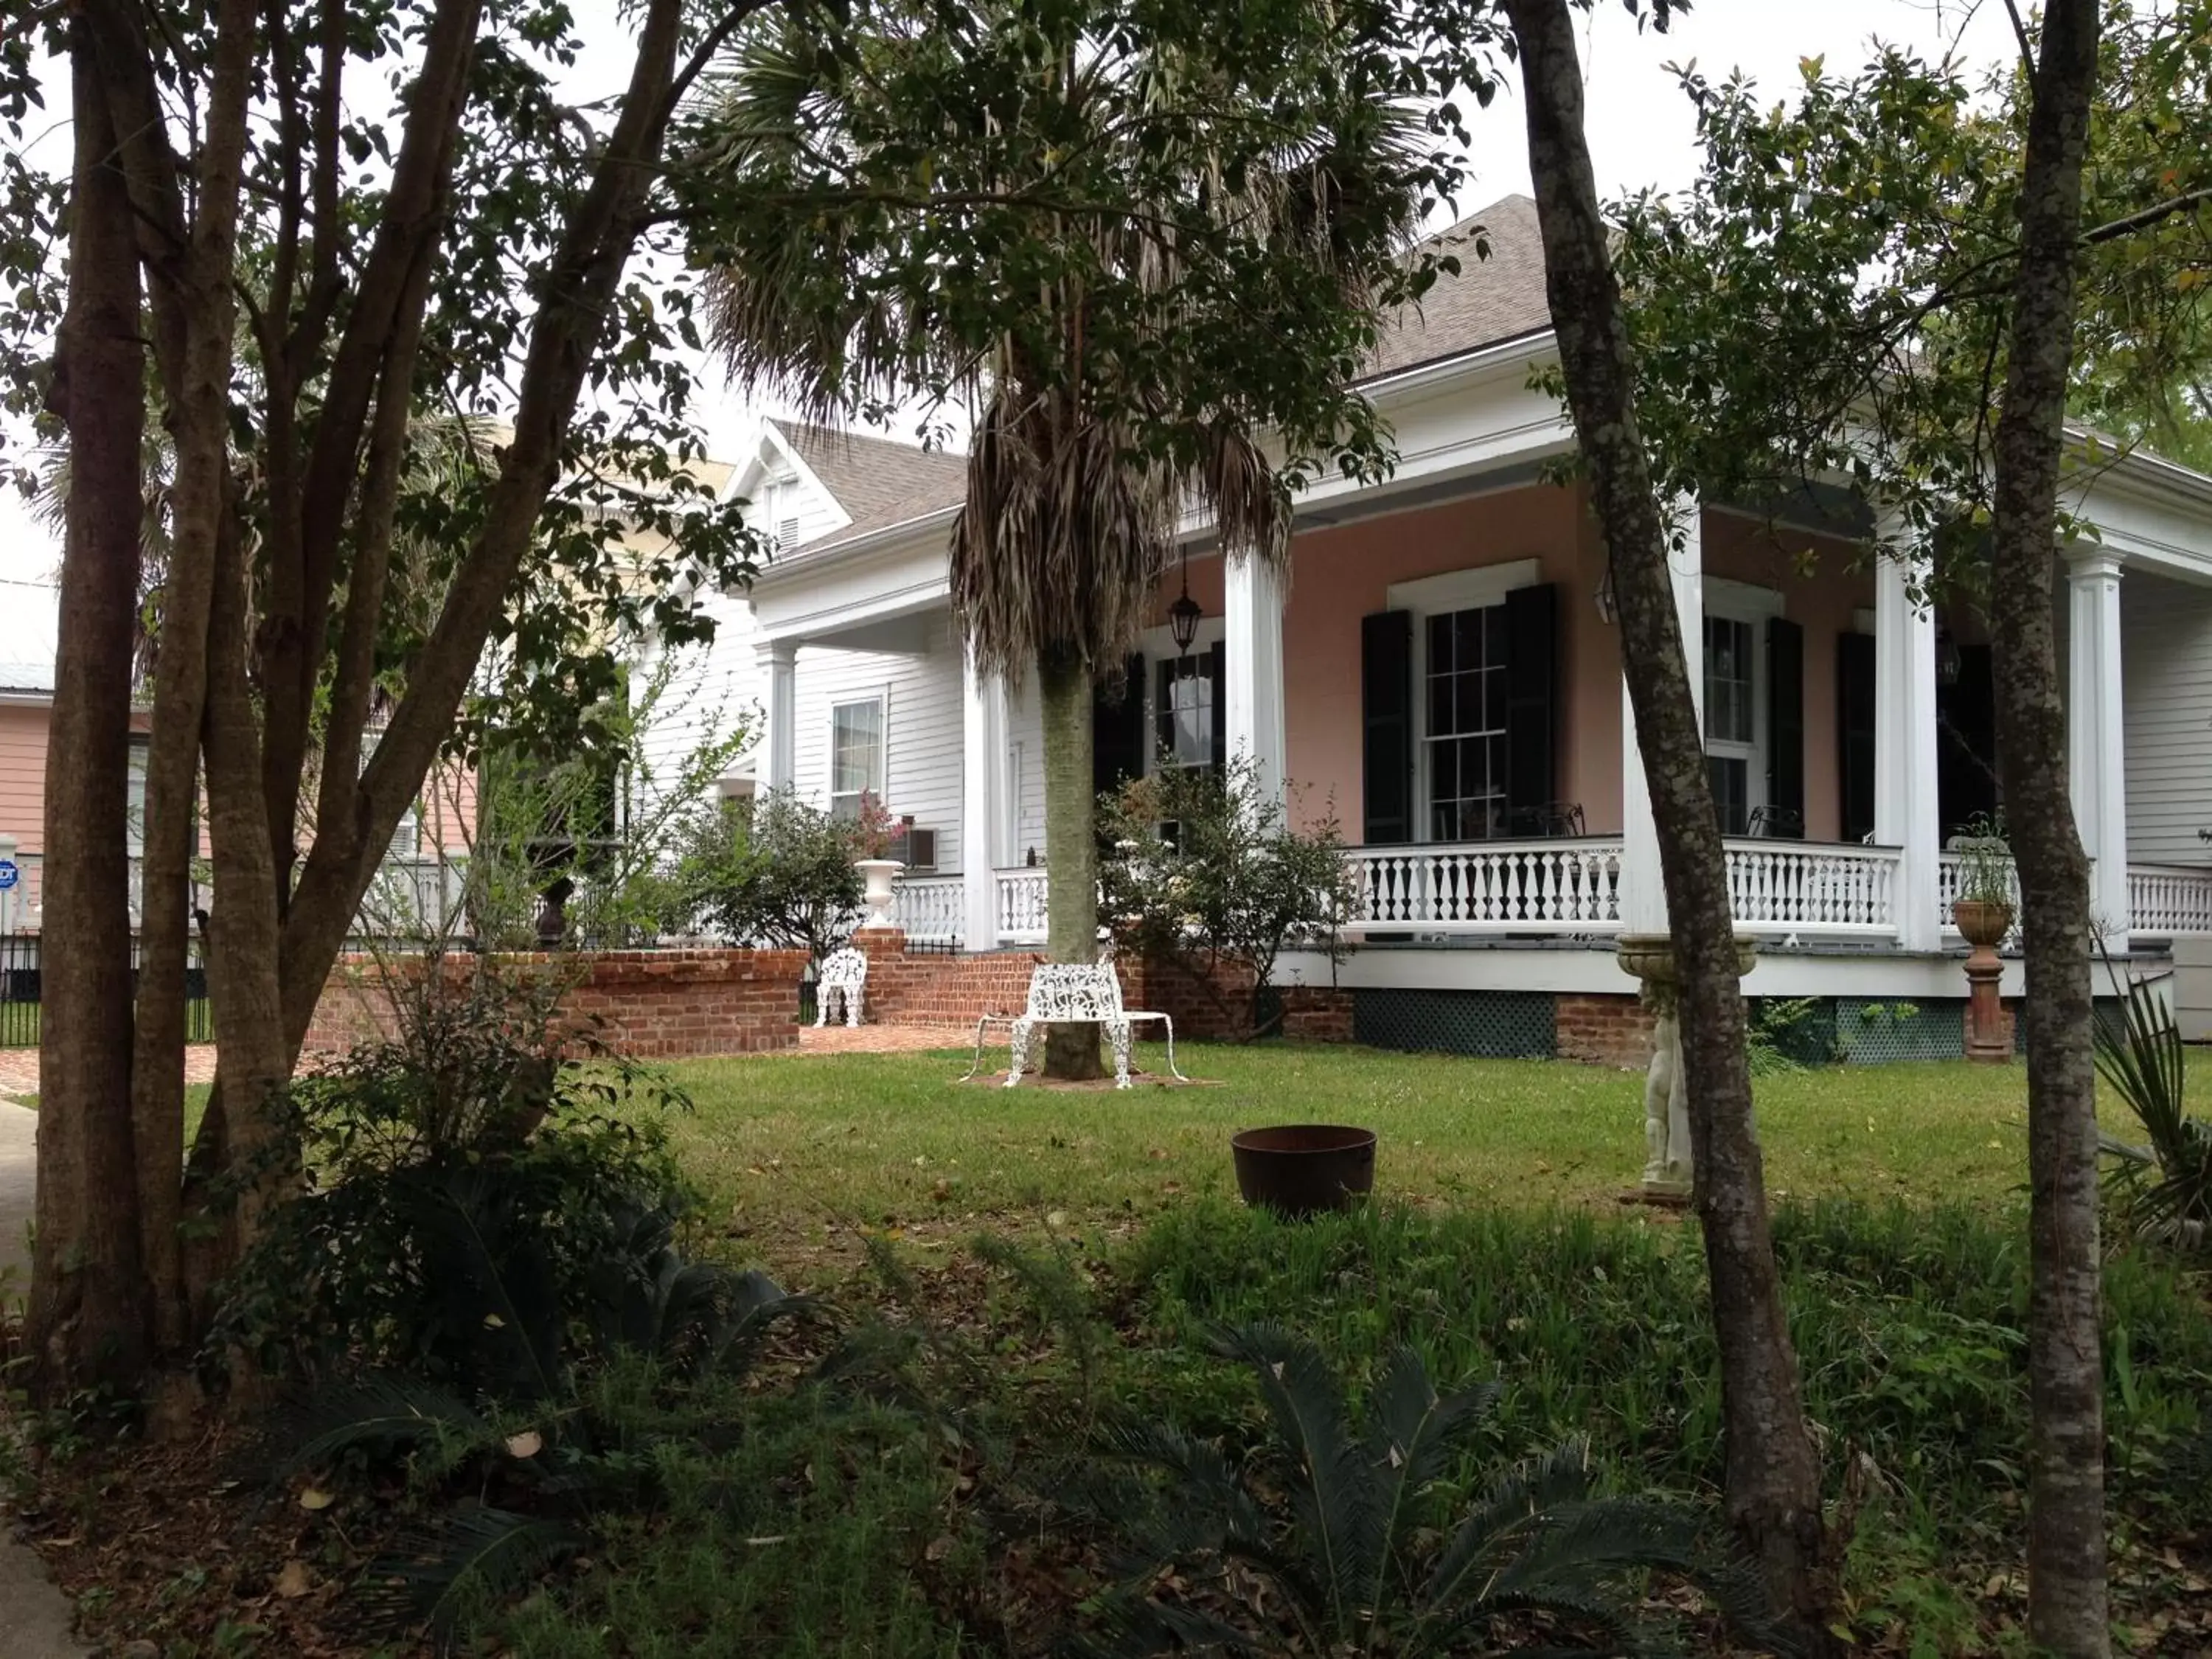
[[[2028,1022],[2028,1641],[2110,1652],[2097,1276],[2095,949],[2088,860],[2066,787],[2053,564],[2075,325],[2081,157],[2097,0],[2053,0],[2020,190],[2020,270],[1997,420],[1991,641],[1997,765],[2020,863]],[[2126,849],[2108,847],[2108,858]]]

